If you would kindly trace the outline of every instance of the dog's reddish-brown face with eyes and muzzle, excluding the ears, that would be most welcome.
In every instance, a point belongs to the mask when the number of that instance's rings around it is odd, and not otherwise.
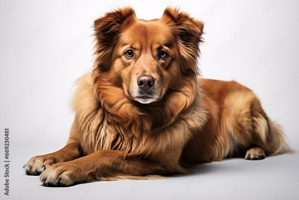
[[[159,101],[167,88],[176,88],[179,50],[170,27],[159,20],[136,20],[120,34],[118,58],[126,97],[140,103]]]

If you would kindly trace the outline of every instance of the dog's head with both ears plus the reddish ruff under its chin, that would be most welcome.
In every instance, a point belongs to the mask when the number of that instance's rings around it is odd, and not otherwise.
[[[202,29],[171,7],[161,19],[137,19],[131,7],[97,19],[92,76],[101,105],[119,121],[137,121],[146,112],[142,104],[154,104],[147,124],[174,121],[196,95]]]

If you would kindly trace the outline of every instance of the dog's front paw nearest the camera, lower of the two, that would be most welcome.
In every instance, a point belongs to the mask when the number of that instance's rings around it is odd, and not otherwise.
[[[56,163],[47,168],[39,176],[44,186],[67,187],[74,185],[80,179],[81,170],[67,163]],[[83,177],[84,178],[84,177]]]

